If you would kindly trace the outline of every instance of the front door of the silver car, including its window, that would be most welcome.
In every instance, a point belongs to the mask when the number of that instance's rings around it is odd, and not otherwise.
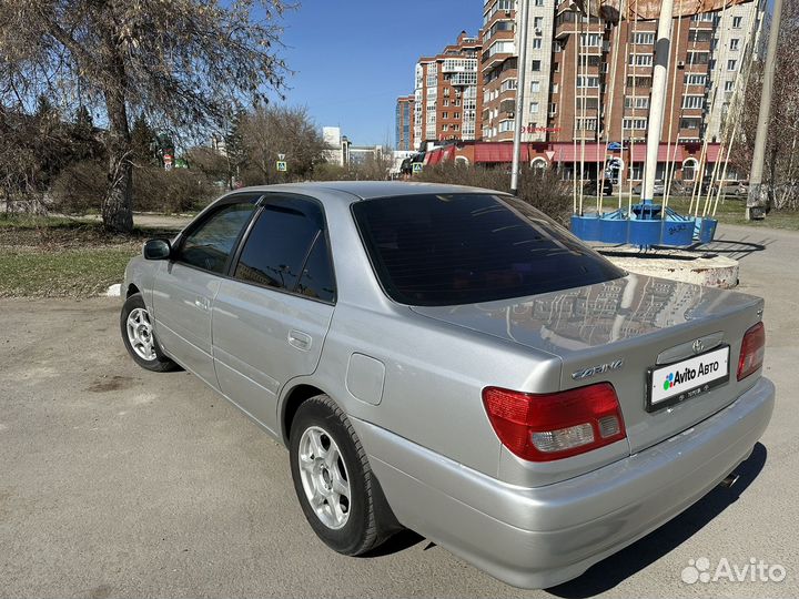
[[[260,195],[226,199],[192,223],[178,241],[174,260],[160,268],[153,285],[159,342],[213,387],[218,383],[211,357],[211,305]]]

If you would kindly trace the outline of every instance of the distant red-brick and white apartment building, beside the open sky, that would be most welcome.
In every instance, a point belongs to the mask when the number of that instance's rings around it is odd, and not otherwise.
[[[422,57],[414,78],[414,115],[412,141],[424,142],[474,140],[482,109],[478,90],[481,41],[461,32],[457,42],[441,54]]]

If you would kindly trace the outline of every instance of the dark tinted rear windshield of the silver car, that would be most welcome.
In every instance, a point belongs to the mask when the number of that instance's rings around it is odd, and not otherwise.
[[[353,204],[353,213],[383,288],[402,304],[492,302],[625,275],[510,196],[383,197]]]

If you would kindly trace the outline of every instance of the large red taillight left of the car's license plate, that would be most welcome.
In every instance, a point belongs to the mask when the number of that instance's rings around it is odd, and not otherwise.
[[[550,394],[486,387],[483,404],[503,445],[529,461],[585,454],[627,436],[609,383]]]

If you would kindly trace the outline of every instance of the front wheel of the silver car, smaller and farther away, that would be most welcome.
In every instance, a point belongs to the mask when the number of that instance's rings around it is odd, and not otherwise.
[[[180,366],[161,351],[141,293],[132,294],[122,305],[120,328],[125,349],[139,366],[154,373],[180,369]]]

